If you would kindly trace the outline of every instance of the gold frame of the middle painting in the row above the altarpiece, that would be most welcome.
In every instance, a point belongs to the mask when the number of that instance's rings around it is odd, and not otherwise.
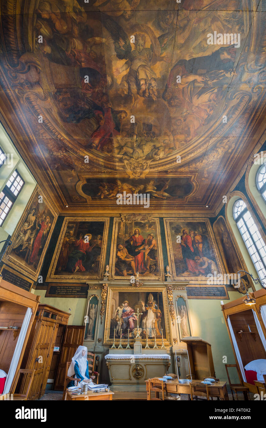
[[[130,228],[132,231],[134,229],[139,229],[141,226],[139,224],[143,224],[143,226],[149,225],[149,223],[154,223],[154,230],[152,229],[153,234],[156,238],[156,244],[157,244],[157,252],[158,252],[158,275],[157,274],[149,274],[149,275],[142,275],[140,274],[141,279],[147,279],[147,280],[158,280],[162,281],[164,279],[164,263],[163,263],[163,251],[162,251],[162,245],[161,245],[161,233],[160,233],[160,223],[158,218],[152,218],[146,221],[139,221],[136,217],[136,220],[122,220],[121,218],[114,218],[114,225],[113,225],[113,232],[112,232],[112,244],[111,244],[111,253],[110,253],[110,261],[109,265],[111,266],[111,279],[130,279],[130,277],[133,275],[133,273],[130,273],[129,275],[122,276],[116,274],[116,254],[117,254],[117,237],[118,237],[118,229],[119,226],[124,223],[128,228],[129,224],[133,223],[133,226]],[[137,223],[137,226],[134,226]],[[121,230],[121,227],[120,227]],[[146,235],[150,230],[148,229],[146,232]],[[145,235],[145,236],[146,236]],[[137,270],[137,266],[135,267]]]

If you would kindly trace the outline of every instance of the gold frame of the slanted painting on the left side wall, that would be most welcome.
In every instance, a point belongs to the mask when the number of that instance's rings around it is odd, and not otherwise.
[[[40,196],[42,197],[41,199],[39,198]],[[39,202],[39,200],[42,201],[42,202]],[[44,207],[42,206],[43,203],[45,204]],[[36,248],[36,254],[35,254],[35,256],[36,256],[36,259],[38,261],[38,265],[37,265],[36,268],[34,268],[34,266],[36,265],[37,262],[36,263],[32,263],[32,264],[28,264],[25,261],[25,259],[23,259],[23,257],[18,256],[15,253],[15,250],[13,250],[14,246],[17,245],[18,235],[23,233],[22,228],[23,228],[23,226],[26,225],[27,219],[29,218],[29,214],[31,214],[30,211],[32,211],[32,209],[35,208],[35,207],[38,208],[38,210],[37,210],[38,212],[43,212],[43,214],[45,213],[44,214],[45,216],[47,216],[47,214],[49,214],[50,220],[51,220],[51,216],[53,216],[53,221],[52,221],[52,223],[50,223],[51,226],[49,228],[47,239],[45,241],[45,244],[44,244],[44,247],[43,247],[43,250],[41,252],[41,256],[40,256],[39,260],[38,260],[38,249]],[[15,231],[12,234],[12,237],[11,237],[12,244],[6,250],[6,253],[3,256],[3,262],[6,263],[6,265],[9,265],[12,268],[15,268],[15,270],[17,270],[18,272],[26,275],[28,278],[33,279],[33,281],[37,281],[38,275],[39,275],[40,270],[41,270],[41,266],[42,266],[43,261],[44,261],[44,256],[46,254],[46,251],[47,251],[47,248],[48,248],[51,236],[53,234],[53,229],[55,227],[57,217],[58,217],[58,214],[53,209],[53,207],[50,204],[50,202],[47,199],[47,197],[44,196],[44,192],[37,185],[35,187],[35,190],[32,193],[32,196],[29,199],[29,202],[26,205],[26,208],[23,211],[22,216],[20,217],[20,221],[18,222],[18,224],[17,224],[17,226],[15,228]],[[35,238],[38,237],[38,234],[39,234],[40,231],[41,231],[41,229],[39,229],[39,231],[36,232]],[[26,231],[24,231],[24,232],[25,232],[24,235],[26,236],[27,232]],[[43,233],[43,235],[44,235],[44,233]],[[41,243],[41,239],[42,239],[42,236],[39,236],[40,243]],[[36,240],[34,240],[33,243],[32,243],[32,248],[33,248],[32,253],[34,252],[35,241]],[[23,247],[23,245],[21,245],[21,246]],[[26,249],[27,249],[27,247],[26,247]],[[18,250],[17,250],[17,252],[18,252]],[[30,262],[30,259],[31,259],[31,253],[29,253],[29,262]]]

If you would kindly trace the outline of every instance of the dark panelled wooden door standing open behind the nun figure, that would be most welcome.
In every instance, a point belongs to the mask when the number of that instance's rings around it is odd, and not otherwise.
[[[56,372],[54,389],[64,389],[64,376],[67,361],[71,361],[79,345],[83,345],[85,336],[85,325],[67,325],[61,345],[58,369]]]

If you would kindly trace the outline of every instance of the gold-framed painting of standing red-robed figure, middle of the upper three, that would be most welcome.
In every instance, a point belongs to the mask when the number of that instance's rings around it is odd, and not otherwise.
[[[138,217],[135,217],[138,218]],[[109,265],[111,279],[163,279],[163,256],[159,220],[114,219]]]

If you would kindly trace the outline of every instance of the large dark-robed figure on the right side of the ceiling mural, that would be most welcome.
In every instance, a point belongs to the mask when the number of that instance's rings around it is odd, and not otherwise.
[[[170,72],[163,99],[170,107],[181,107],[184,100],[186,108],[205,125],[224,93],[222,85],[212,87],[212,84],[232,77],[235,55],[236,49],[228,46],[208,56],[179,60]],[[197,74],[199,71],[204,73]],[[180,83],[176,83],[177,75],[181,76]]]

